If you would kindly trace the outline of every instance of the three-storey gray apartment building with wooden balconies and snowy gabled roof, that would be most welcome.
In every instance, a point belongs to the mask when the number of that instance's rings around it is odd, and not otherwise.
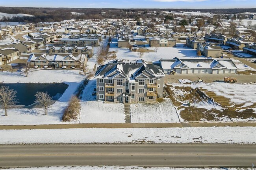
[[[97,100],[114,103],[156,102],[163,98],[163,69],[143,60],[115,60],[95,73]]]

